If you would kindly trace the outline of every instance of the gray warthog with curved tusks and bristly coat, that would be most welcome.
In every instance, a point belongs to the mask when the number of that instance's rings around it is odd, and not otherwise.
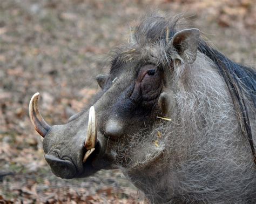
[[[29,113],[60,178],[119,168],[151,202],[255,202],[255,70],[148,15],[99,75],[89,111],[48,125]]]

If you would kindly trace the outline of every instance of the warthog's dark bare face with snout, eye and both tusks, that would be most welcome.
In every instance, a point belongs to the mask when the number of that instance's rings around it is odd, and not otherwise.
[[[39,93],[32,97],[30,117],[44,137],[45,159],[57,176],[71,179],[102,168],[117,168],[121,163],[128,165],[134,156],[142,154],[141,147],[129,145],[129,141],[134,142],[134,137],[139,139],[137,134],[148,134],[164,117],[163,107],[158,104],[160,99],[166,105],[164,100],[168,97],[163,93],[166,80],[163,70],[151,63],[122,64],[120,60],[119,56],[113,60],[109,76],[97,77],[103,90],[96,103],[90,110],[73,115],[67,124],[46,124],[37,106]],[[149,149],[158,146],[153,143],[157,137],[148,140],[145,145]],[[127,157],[118,155],[117,149],[125,145],[129,145],[122,150],[127,151]]]

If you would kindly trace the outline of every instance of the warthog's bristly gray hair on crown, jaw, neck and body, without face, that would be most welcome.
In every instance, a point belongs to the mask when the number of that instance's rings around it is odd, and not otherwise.
[[[179,22],[180,16],[150,13],[131,28],[129,43],[113,52],[113,64],[143,60],[171,72],[170,83],[187,74],[188,84],[187,90],[181,89],[184,81],[175,93],[167,90],[177,101],[170,123],[111,148],[117,167],[152,202],[254,202],[255,70],[232,62],[201,38],[196,61],[175,64],[169,42]],[[133,155],[136,149],[140,155]]]

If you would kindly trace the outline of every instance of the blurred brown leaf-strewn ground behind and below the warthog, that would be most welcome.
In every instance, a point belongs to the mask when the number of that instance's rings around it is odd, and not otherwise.
[[[99,90],[107,53],[126,42],[130,23],[147,10],[184,13],[215,48],[255,66],[254,0],[0,1],[0,203],[143,203],[118,170],[59,179],[44,160],[28,116],[41,93],[49,124],[66,123]]]

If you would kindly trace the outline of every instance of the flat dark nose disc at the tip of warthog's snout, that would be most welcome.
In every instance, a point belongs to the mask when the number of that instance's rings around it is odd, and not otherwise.
[[[69,160],[63,160],[51,154],[45,154],[45,160],[50,165],[52,172],[63,179],[72,179],[77,173],[76,166]]]

